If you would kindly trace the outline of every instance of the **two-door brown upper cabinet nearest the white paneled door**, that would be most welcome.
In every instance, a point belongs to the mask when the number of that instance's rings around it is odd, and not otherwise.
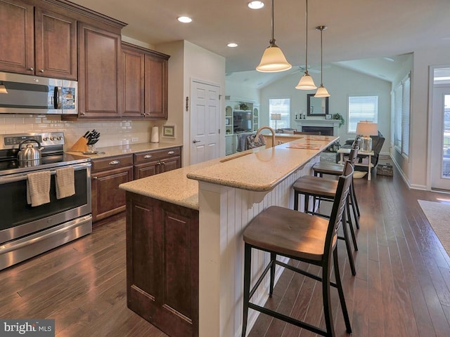
[[[122,117],[167,119],[169,55],[122,42]]]

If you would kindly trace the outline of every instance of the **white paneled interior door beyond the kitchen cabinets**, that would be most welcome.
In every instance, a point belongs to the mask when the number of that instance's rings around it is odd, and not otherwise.
[[[219,86],[191,81],[191,165],[219,157]]]

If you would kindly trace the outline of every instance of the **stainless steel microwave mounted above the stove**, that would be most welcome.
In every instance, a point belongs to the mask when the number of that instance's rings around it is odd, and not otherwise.
[[[77,114],[78,82],[0,72],[0,113]]]

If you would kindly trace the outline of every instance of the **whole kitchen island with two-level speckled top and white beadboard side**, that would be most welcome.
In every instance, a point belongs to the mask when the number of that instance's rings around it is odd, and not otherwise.
[[[304,136],[120,185],[129,308],[169,336],[238,336],[243,230],[268,206],[293,208],[293,183],[335,140]],[[262,267],[269,257],[253,258]],[[266,301],[267,286],[256,303]],[[256,318],[250,311],[249,330]]]

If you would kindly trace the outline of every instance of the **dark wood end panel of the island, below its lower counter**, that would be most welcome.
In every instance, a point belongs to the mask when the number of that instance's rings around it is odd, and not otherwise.
[[[198,211],[127,192],[127,303],[169,336],[198,336]]]

